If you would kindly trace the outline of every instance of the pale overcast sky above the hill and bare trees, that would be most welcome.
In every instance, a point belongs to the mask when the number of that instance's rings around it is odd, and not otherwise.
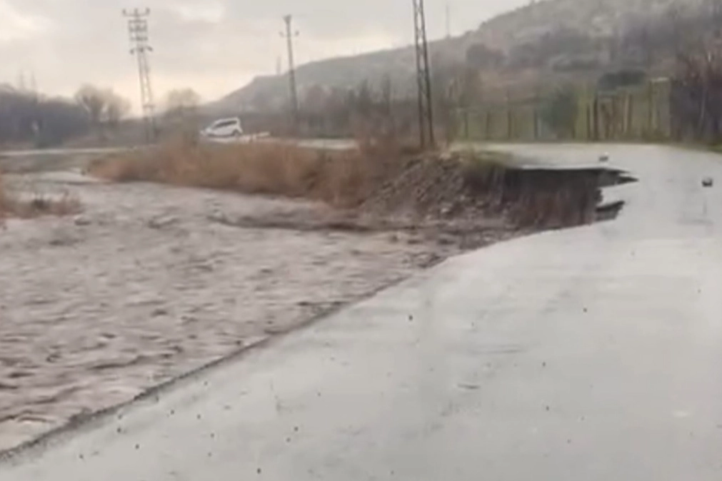
[[[300,31],[297,63],[406,45],[413,37],[411,0],[0,0],[0,81],[34,74],[38,89],[71,95],[89,82],[113,87],[137,105],[137,74],[123,7],[148,6],[156,97],[191,87],[204,100],[285,65],[283,14]],[[529,0],[426,0],[430,37],[478,27]]]

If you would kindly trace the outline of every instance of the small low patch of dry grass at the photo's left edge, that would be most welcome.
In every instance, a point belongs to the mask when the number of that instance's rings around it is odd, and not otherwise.
[[[35,193],[20,198],[6,190],[0,173],[0,223],[9,217],[32,219],[39,216],[69,216],[82,210],[80,201],[69,193],[60,197]]]

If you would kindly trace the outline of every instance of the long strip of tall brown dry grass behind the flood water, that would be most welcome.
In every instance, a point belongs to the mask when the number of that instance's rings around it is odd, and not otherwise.
[[[114,182],[162,182],[323,200],[357,206],[375,181],[397,169],[388,144],[321,151],[290,144],[199,144],[175,139],[148,151],[93,162],[90,174]]]

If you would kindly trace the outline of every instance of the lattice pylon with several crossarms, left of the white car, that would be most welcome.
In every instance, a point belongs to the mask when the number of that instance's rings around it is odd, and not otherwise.
[[[146,141],[155,140],[155,104],[153,102],[153,89],[150,83],[150,64],[148,53],[153,48],[148,42],[148,17],[150,9],[134,9],[129,12],[123,9],[123,17],[128,19],[128,32],[131,40],[131,55],[138,61],[138,77],[140,81],[140,101],[143,110]]]

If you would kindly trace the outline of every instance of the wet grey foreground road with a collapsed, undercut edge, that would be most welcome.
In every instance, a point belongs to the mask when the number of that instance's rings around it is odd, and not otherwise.
[[[722,479],[722,157],[604,149],[640,179],[617,220],[448,260],[0,479]]]

